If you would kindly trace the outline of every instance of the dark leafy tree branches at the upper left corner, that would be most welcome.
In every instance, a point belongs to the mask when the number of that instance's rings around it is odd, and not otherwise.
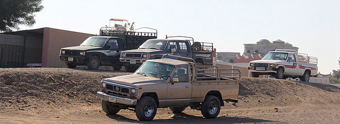
[[[41,0],[0,0],[0,32],[19,30],[19,25],[32,26],[34,13],[44,7]]]

